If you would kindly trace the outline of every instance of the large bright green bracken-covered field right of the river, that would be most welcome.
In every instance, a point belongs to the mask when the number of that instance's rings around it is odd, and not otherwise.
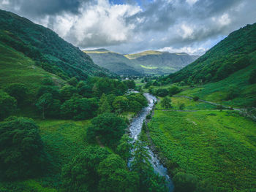
[[[148,123],[160,155],[225,191],[250,191],[256,178],[256,124],[233,111],[155,110]],[[169,168],[170,169],[170,168]]]

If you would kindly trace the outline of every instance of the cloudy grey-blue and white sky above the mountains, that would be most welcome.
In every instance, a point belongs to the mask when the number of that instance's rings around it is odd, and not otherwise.
[[[203,55],[246,24],[256,0],[0,0],[80,49]]]

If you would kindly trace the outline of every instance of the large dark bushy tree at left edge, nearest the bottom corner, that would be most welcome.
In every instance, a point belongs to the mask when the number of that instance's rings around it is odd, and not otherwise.
[[[38,126],[28,118],[0,123],[0,177],[16,180],[42,175],[48,162]]]

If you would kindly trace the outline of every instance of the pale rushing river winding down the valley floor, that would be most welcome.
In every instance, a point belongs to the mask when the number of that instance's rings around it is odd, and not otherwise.
[[[144,96],[146,96],[146,99],[148,99],[148,107],[144,107],[143,110],[140,112],[138,117],[134,118],[132,120],[132,123],[129,126],[130,131],[130,137],[134,140],[134,142],[138,139],[141,128],[143,126],[143,121],[146,120],[146,115],[153,109],[154,107],[154,101],[157,101],[157,98],[152,96],[149,93],[144,93]],[[159,175],[165,177],[167,181],[167,188],[169,192],[172,192],[174,189],[173,182],[170,179],[169,175],[167,174],[167,169],[165,166],[163,166],[159,159],[157,158],[157,155],[153,153],[153,151],[146,147],[148,150],[149,155],[151,156],[151,164],[154,167],[154,172],[157,172]]]

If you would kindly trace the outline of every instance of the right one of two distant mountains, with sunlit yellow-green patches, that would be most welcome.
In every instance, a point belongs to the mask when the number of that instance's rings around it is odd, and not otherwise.
[[[125,55],[132,61],[135,69],[142,69],[146,74],[170,74],[191,64],[198,56],[187,53],[169,53],[148,50],[142,53]]]

